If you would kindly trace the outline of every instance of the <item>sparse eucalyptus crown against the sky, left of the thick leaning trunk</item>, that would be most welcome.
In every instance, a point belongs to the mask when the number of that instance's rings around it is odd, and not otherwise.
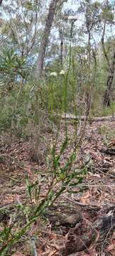
[[[17,48],[21,56],[27,56],[35,43],[40,1],[10,0],[9,5],[4,2],[3,10],[6,12],[6,29],[10,31],[13,48]]]

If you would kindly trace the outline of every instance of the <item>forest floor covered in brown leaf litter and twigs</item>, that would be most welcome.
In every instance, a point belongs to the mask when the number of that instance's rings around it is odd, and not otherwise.
[[[73,129],[69,124],[70,134]],[[63,133],[62,129],[60,142]],[[27,174],[31,181],[42,174],[42,197],[48,189],[45,162],[32,161],[30,148],[30,142],[12,140],[9,134],[0,137],[0,228],[3,223],[9,225],[10,211],[18,203],[28,201]],[[65,151],[64,161],[71,150],[72,146]],[[74,187],[72,193],[62,194],[46,213],[47,220],[38,220],[31,228],[28,237],[36,235],[35,252],[31,254],[30,240],[25,237],[13,256],[115,255],[115,121],[87,124],[74,168],[87,157],[81,190]]]

